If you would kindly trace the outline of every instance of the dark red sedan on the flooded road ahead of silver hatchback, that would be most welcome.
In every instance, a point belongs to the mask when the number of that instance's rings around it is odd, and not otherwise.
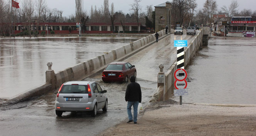
[[[136,78],[136,68],[134,65],[131,65],[128,62],[112,62],[110,63],[105,70],[102,72],[102,81],[111,82],[127,82],[128,78],[135,76]]]

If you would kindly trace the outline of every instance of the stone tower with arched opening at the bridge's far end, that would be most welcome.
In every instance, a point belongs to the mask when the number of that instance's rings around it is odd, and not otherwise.
[[[163,30],[166,26],[170,30],[171,2],[169,1],[155,6],[155,32]]]

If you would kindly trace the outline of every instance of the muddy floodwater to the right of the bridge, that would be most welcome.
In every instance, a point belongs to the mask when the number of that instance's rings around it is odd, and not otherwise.
[[[182,102],[256,104],[255,53],[256,38],[211,38],[186,67]]]

